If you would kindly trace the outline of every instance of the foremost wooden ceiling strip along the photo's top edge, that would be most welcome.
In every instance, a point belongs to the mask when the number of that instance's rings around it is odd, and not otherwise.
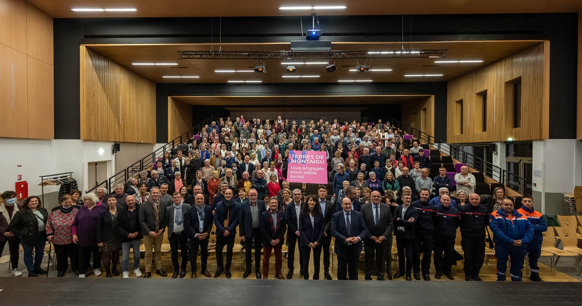
[[[580,0],[27,0],[55,18],[70,17],[211,17],[296,16],[311,10],[280,10],[280,6],[344,5],[347,9],[317,10],[318,15],[432,15],[481,13],[580,12]],[[72,8],[135,8],[137,12],[73,12]]]

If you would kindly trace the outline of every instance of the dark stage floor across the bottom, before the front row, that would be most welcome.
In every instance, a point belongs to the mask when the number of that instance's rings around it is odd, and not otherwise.
[[[0,305],[582,305],[582,283],[0,277]]]

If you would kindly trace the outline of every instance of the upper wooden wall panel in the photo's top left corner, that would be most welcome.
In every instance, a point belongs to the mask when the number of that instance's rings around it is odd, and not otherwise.
[[[0,0],[0,44],[25,54],[27,5],[23,0]]]

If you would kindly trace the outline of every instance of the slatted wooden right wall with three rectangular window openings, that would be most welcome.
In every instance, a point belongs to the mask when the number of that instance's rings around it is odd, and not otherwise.
[[[455,134],[455,120],[447,120],[449,143],[485,143],[514,140],[539,140],[547,138],[543,131],[544,106],[548,103],[546,82],[549,81],[545,65],[548,44],[541,43],[517,54],[482,67],[448,82],[447,107],[455,109],[456,101],[463,99],[463,134]],[[521,77],[521,127],[508,128],[510,120],[506,109],[512,101],[506,98],[506,82]],[[478,92],[487,90],[487,131],[481,131],[474,120],[481,113]],[[452,114],[452,112],[449,112]],[[546,116],[545,116],[546,117]],[[449,115],[449,118],[453,118]]]

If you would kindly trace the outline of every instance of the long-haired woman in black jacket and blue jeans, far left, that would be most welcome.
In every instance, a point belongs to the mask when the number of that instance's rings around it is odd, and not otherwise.
[[[40,268],[44,256],[44,246],[47,243],[45,224],[48,219],[47,209],[41,207],[40,198],[36,195],[26,198],[22,210],[17,212],[8,226],[5,236],[19,236],[24,249],[24,265],[29,271],[29,277],[46,274]],[[34,259],[33,259],[34,251]]]

